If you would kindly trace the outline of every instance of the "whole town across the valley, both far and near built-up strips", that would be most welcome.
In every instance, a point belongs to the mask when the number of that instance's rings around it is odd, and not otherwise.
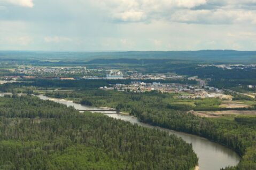
[[[231,96],[223,94],[219,88],[206,86],[206,81],[195,77],[184,77],[174,73],[142,74],[137,71],[123,72],[117,69],[87,69],[87,67],[19,67],[14,69],[20,76],[4,76],[1,80],[20,81],[23,79],[130,79],[128,84],[112,84],[110,87],[100,87],[103,90],[130,91],[144,93],[158,91],[162,93],[179,93],[180,99],[220,98],[230,100]],[[161,80],[195,80],[196,84],[188,83],[161,83]],[[147,80],[151,80],[150,83]],[[154,82],[152,81],[154,80]]]

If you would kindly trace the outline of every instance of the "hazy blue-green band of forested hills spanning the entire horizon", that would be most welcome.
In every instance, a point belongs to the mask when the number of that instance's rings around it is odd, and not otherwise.
[[[94,59],[168,59],[183,61],[211,61],[256,63],[256,51],[200,50],[200,51],[128,51],[128,52],[22,52],[0,51],[0,60],[28,61],[55,64],[81,64]],[[66,63],[67,64],[67,63]]]

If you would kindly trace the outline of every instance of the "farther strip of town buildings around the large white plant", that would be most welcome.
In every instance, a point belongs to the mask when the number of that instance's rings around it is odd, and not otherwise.
[[[138,71],[123,72],[117,69],[88,69],[87,67],[29,67],[19,66],[10,69],[19,76],[5,76],[5,79],[18,78],[49,78],[49,79],[183,79],[181,75],[166,74],[142,74]]]

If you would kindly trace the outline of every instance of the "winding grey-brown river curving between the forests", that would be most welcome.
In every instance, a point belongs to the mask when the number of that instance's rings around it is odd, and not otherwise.
[[[63,103],[63,104],[66,104],[66,106],[73,106],[77,110],[102,109],[97,107],[84,106],[84,105],[73,103],[72,101],[67,101],[64,99],[49,98],[43,95],[38,95],[38,97],[43,100],[51,100],[58,103]],[[107,112],[109,111],[105,111],[105,113]],[[175,134],[179,137],[182,137],[184,141],[188,143],[192,143],[193,150],[196,152],[197,156],[199,157],[200,170],[219,170],[220,168],[226,167],[228,165],[235,166],[239,163],[239,160],[241,159],[236,152],[228,149],[227,147],[224,147],[223,145],[209,141],[203,137],[144,124],[139,122],[137,118],[128,116],[128,115],[110,114],[107,116],[125,120],[132,124],[138,124],[148,128],[159,128],[162,131],[168,132],[169,134]]]

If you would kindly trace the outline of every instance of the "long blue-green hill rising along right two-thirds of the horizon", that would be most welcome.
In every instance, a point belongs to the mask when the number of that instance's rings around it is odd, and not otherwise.
[[[97,58],[127,59],[171,59],[213,62],[256,63],[256,51],[200,50],[200,51],[129,51],[92,53]]]

